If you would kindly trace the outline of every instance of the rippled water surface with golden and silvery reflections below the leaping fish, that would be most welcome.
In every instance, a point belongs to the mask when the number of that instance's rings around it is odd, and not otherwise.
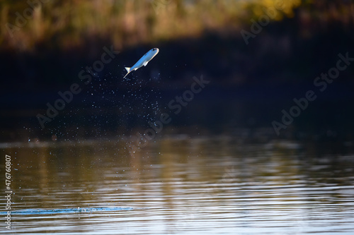
[[[354,233],[353,155],[230,138],[164,138],[135,155],[113,140],[1,152],[14,233]]]

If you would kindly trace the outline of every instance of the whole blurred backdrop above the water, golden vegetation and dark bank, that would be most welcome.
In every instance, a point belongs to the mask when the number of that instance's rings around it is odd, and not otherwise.
[[[120,138],[144,131],[167,112],[172,121],[159,137],[232,135],[263,143],[302,140],[333,150],[353,146],[354,65],[324,92],[314,86],[317,76],[336,66],[339,53],[354,57],[353,1],[287,1],[248,45],[241,30],[250,31],[250,20],[273,7],[266,1],[113,2],[38,5],[13,37],[5,25],[28,4],[1,2],[2,142]],[[120,54],[84,84],[79,72],[111,45]],[[123,79],[124,67],[153,47],[159,54]],[[210,83],[173,115],[169,101],[190,89],[193,76]],[[41,128],[36,115],[73,83],[82,91]],[[277,135],[272,121],[280,122],[282,109],[289,111],[308,90],[316,100]]]

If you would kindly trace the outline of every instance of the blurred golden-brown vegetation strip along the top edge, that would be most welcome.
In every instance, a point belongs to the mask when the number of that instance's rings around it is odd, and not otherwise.
[[[321,0],[253,0],[253,1],[193,1],[193,0],[40,0],[0,1],[1,50],[33,51],[45,48],[71,49],[105,40],[115,48],[171,40],[178,37],[198,37],[205,30],[239,34],[241,25],[264,14],[264,8],[281,4],[274,20],[293,17],[301,7],[299,20],[306,28],[326,27],[333,21],[353,25],[352,1]],[[36,4],[35,4],[36,3]],[[39,3],[39,4],[38,4]],[[33,15],[27,8],[34,8]],[[17,15],[16,15],[17,12]],[[27,13],[27,15],[25,15]],[[25,23],[18,27],[18,14]],[[27,16],[27,18],[25,18]],[[257,18],[256,18],[257,19]],[[13,37],[8,28],[13,28]],[[310,27],[311,28],[311,27]],[[16,30],[14,30],[16,29]],[[307,32],[304,31],[304,34]]]

